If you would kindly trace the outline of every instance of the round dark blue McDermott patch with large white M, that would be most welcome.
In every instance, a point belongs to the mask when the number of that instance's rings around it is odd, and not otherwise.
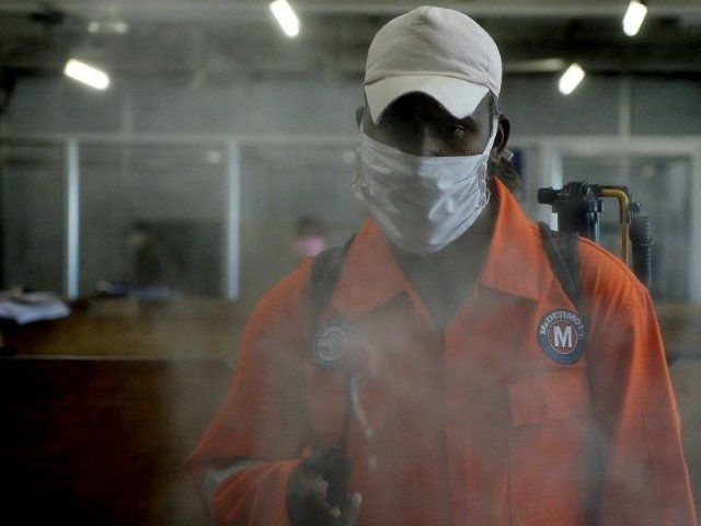
[[[559,364],[574,364],[584,353],[584,323],[576,312],[558,309],[548,312],[538,325],[538,342]]]

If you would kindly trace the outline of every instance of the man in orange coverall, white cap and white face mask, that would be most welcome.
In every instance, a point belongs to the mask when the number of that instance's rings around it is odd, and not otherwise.
[[[376,35],[354,238],[319,322],[310,265],[253,313],[188,468],[219,524],[691,525],[647,291],[579,242],[583,301],[487,160],[501,58],[457,11]]]

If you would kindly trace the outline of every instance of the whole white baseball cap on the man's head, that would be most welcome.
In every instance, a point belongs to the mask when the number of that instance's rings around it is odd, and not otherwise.
[[[458,118],[502,88],[502,57],[480,24],[464,13],[421,7],[397,16],[372,38],[365,67],[372,122],[402,95],[426,93]]]

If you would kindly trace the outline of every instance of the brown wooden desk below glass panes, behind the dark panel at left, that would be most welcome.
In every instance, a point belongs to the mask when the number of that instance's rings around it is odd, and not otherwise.
[[[244,319],[216,298],[73,301],[59,320],[18,325],[2,320],[4,355],[234,359]]]

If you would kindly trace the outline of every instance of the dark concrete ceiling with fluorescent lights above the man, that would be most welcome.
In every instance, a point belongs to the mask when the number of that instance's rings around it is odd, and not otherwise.
[[[281,33],[267,3],[0,0],[0,78],[58,76],[74,56],[115,77],[203,85],[237,78],[356,79],[375,32],[425,2],[290,0],[301,21],[296,38]],[[701,79],[701,0],[650,0],[648,18],[633,38],[621,31],[628,0],[438,3],[485,26],[507,75],[554,75],[577,60],[590,75]],[[99,31],[91,32],[91,23]],[[115,31],[119,23],[128,31]]]

